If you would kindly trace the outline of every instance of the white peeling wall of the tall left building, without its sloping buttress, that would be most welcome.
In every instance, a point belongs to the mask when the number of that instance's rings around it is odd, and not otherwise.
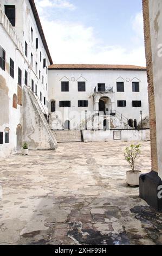
[[[13,95],[21,95],[24,87],[24,73],[28,72],[28,86],[31,87],[31,80],[34,81],[34,91],[37,85],[37,95],[40,98],[40,92],[42,93],[42,105],[40,103],[43,112],[48,112],[47,101],[47,83],[48,74],[46,68],[43,68],[43,59],[46,58],[46,65],[48,66],[49,59],[47,57],[46,50],[44,49],[41,36],[38,32],[38,28],[34,19],[33,12],[28,0],[0,0],[0,8],[4,11],[4,5],[16,6],[16,26],[13,31],[18,35],[18,40],[21,41],[22,48],[17,47],[16,41],[12,40],[12,36],[7,30],[5,25],[0,25],[0,45],[5,50],[5,71],[0,68],[0,131],[3,132],[3,144],[0,145],[0,157],[8,156],[16,153],[17,151],[17,125],[23,125],[24,109],[21,105],[17,105],[17,108],[12,107]],[[5,22],[5,24],[7,24]],[[33,41],[31,40],[31,27],[33,28]],[[36,38],[38,38],[38,49],[36,50]],[[25,41],[28,44],[28,56],[25,56]],[[42,53],[42,62],[40,62],[40,52]],[[33,66],[31,65],[31,53],[33,54]],[[10,76],[10,58],[14,60],[14,78]],[[37,72],[36,72],[37,62]],[[22,70],[22,92],[21,87],[18,86],[18,68]],[[39,78],[39,70],[41,71],[41,78]],[[42,83],[42,76],[44,77],[44,83]],[[46,97],[46,104],[43,104],[43,97]],[[38,100],[38,99],[37,99]],[[39,100],[38,100],[39,101]],[[23,102],[23,97],[22,97]],[[18,101],[21,103],[21,100]],[[5,143],[5,128],[9,127],[9,143]],[[33,127],[31,126],[31,130]],[[40,130],[37,130],[40,132]],[[25,139],[25,130],[23,130]],[[32,143],[32,140],[31,140]]]

